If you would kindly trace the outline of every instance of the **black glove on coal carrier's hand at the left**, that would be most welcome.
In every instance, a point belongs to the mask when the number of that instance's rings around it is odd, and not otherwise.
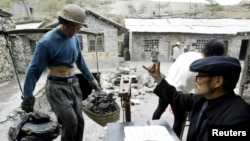
[[[23,99],[21,103],[22,110],[24,110],[26,113],[33,112],[35,105],[35,98],[22,97],[22,99]]]

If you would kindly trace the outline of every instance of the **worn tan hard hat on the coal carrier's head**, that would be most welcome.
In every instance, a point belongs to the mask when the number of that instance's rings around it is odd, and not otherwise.
[[[61,12],[58,12],[58,16],[67,21],[87,26],[87,24],[84,23],[86,18],[85,11],[82,10],[78,5],[66,5]]]

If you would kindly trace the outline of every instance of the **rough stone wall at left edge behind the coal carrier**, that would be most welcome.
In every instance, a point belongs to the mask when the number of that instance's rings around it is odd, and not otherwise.
[[[11,17],[0,17],[0,30],[11,29],[15,29]],[[35,51],[36,42],[42,35],[0,34],[0,86],[15,80],[15,71],[18,74],[25,74]]]

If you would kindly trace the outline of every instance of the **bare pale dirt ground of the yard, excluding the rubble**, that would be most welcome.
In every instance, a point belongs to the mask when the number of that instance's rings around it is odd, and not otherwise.
[[[161,62],[161,72],[164,75],[167,75],[168,68],[171,66],[173,62]],[[243,62],[241,62],[243,65]],[[137,68],[137,71],[145,72],[143,70],[142,65],[148,66],[151,62],[130,62],[121,61],[123,66],[129,66],[130,68]],[[20,77],[21,84],[23,84],[24,77]],[[44,84],[46,82],[46,74],[43,74],[39,79],[35,93],[36,93],[36,109],[44,113],[49,113],[49,115],[55,119],[54,113],[51,111],[51,108],[44,97]],[[112,92],[118,91],[119,87],[115,87],[110,90]],[[236,93],[237,93],[236,89]],[[18,120],[18,112],[21,111],[20,103],[21,103],[21,92],[17,82],[13,82],[11,84],[1,86],[0,87],[0,139],[1,141],[8,141],[8,130],[13,124]],[[153,93],[144,93],[133,96],[132,98],[139,101],[135,105],[131,105],[131,120],[150,120],[152,118],[152,114],[157,106],[158,97]],[[116,94],[116,102],[121,107],[121,98]],[[92,119],[90,119],[85,113],[85,130],[84,130],[84,140],[83,141],[107,141],[106,136],[106,127],[100,126]],[[162,120],[166,120],[170,126],[173,124],[173,114],[166,110],[161,117]],[[121,109],[120,111],[120,119],[117,122],[123,122],[124,119],[124,111]],[[183,141],[185,141],[186,131],[188,128],[185,128]],[[60,141],[60,136],[55,139],[55,141]]]

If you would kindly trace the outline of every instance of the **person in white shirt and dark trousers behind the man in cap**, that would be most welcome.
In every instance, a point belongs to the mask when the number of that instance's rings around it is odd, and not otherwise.
[[[189,93],[194,88],[194,81],[196,73],[189,71],[190,64],[203,57],[209,56],[221,56],[225,52],[224,42],[212,39],[209,40],[201,52],[187,52],[181,54],[177,60],[170,66],[167,73],[166,80],[169,84],[175,86],[178,91],[183,91],[184,93]],[[163,99],[159,98],[158,106],[153,113],[152,119],[160,119],[163,112],[166,110],[169,104]],[[171,108],[171,106],[169,106]],[[182,130],[185,124],[186,115],[185,111],[181,109],[172,109],[174,113],[174,125],[173,129],[175,133],[181,137]]]

